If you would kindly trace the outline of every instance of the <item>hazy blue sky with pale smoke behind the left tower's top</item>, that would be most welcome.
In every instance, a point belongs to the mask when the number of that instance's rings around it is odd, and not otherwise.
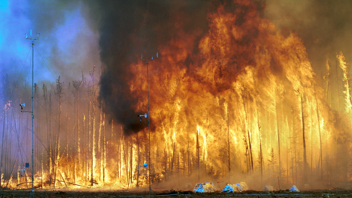
[[[64,3],[63,3],[64,2]],[[28,79],[31,40],[34,41],[34,82],[79,80],[93,64],[100,66],[99,32],[89,20],[87,6],[79,1],[0,1],[1,74]],[[32,36],[30,31],[32,30]],[[30,80],[31,81],[31,80]]]

